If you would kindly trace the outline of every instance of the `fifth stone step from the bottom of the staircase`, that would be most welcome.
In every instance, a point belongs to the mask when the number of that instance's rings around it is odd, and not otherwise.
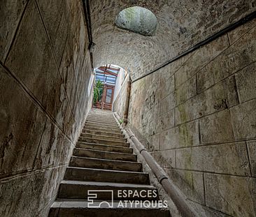
[[[90,149],[73,149],[73,156],[86,157],[86,158],[100,158],[108,160],[125,160],[136,162],[136,154],[125,154],[111,151],[97,151]]]

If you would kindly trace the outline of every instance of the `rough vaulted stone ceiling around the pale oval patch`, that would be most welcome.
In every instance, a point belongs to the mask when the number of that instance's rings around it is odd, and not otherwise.
[[[118,13],[131,6],[155,13],[155,36],[115,26]],[[176,57],[201,40],[256,10],[255,0],[90,0],[92,37],[97,44],[94,66],[113,63],[132,79]]]

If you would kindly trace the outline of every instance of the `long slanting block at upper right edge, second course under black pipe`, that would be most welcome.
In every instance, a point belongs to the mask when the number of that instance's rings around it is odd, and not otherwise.
[[[199,92],[256,61],[255,34],[256,27],[197,73],[197,89]]]

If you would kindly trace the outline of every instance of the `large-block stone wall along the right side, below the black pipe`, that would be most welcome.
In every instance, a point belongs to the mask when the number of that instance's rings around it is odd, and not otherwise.
[[[256,20],[131,84],[129,126],[199,216],[256,216]]]

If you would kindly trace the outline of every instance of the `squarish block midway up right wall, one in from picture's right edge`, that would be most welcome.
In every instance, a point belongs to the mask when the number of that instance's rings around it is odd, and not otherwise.
[[[211,114],[200,120],[202,144],[234,141],[234,134],[229,110]]]

